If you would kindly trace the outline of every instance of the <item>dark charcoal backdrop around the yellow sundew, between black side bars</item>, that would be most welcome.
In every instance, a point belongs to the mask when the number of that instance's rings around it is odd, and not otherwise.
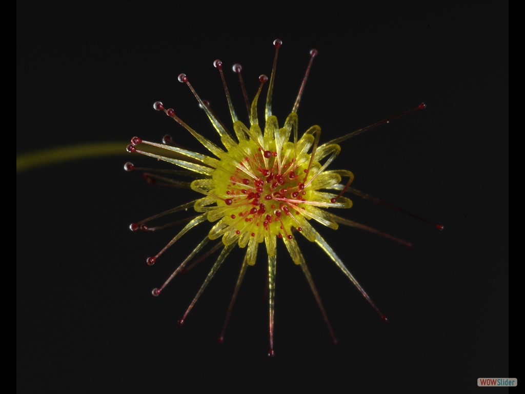
[[[218,142],[176,76],[185,72],[226,121],[213,60],[243,64],[253,97],[278,37],[274,112],[282,122],[317,48],[299,128],[319,124],[323,141],[427,102],[343,142],[333,168],[446,226],[439,232],[354,197],[343,215],[414,247],[349,227],[319,230],[388,323],[319,248],[299,240],[338,346],[280,247],[271,359],[262,248],[222,345],[240,251],[183,327],[176,321],[213,257],[151,296],[206,231],[146,266],[176,229],[131,233],[129,223],[194,196],[122,170],[127,160],[154,161],[123,151],[19,173],[19,392],[489,392],[478,377],[516,374],[508,365],[508,4],[340,4],[17,2],[17,153],[103,141],[124,150],[134,135],[165,133],[202,151],[153,101]],[[229,68],[226,78],[243,116]]]

